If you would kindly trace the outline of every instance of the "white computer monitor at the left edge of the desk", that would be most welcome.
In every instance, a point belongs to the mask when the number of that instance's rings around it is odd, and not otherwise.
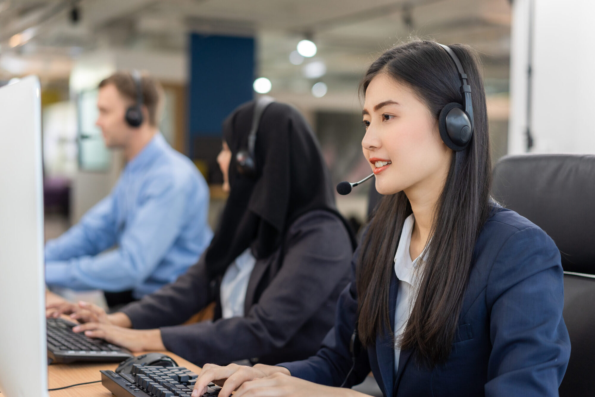
[[[0,87],[0,391],[48,396],[40,86]]]

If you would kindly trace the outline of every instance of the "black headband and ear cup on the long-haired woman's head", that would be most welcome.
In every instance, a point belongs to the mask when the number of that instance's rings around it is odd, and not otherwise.
[[[471,104],[471,86],[467,84],[467,75],[461,61],[449,46],[438,44],[450,55],[461,77],[463,105],[450,102],[442,108],[439,117],[440,137],[453,151],[462,151],[471,142],[473,135],[473,105]]]

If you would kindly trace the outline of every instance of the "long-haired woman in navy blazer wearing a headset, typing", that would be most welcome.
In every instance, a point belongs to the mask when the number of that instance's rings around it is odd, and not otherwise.
[[[415,40],[361,83],[364,156],[385,195],[353,255],[318,353],[277,366],[205,365],[220,397],[557,396],[570,354],[559,251],[490,198],[486,96],[465,45]],[[355,330],[355,332],[354,332]]]

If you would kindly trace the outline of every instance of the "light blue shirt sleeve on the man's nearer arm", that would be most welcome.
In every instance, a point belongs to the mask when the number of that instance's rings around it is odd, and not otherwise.
[[[134,218],[114,251],[95,257],[46,262],[46,282],[71,289],[121,291],[146,280],[179,235],[186,195],[167,176],[155,177],[143,190]]]

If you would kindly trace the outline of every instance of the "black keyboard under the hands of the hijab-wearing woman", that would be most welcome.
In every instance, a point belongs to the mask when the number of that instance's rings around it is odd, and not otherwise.
[[[48,359],[52,362],[120,362],[132,354],[103,339],[93,339],[73,332],[77,324],[63,318],[48,318]]]

